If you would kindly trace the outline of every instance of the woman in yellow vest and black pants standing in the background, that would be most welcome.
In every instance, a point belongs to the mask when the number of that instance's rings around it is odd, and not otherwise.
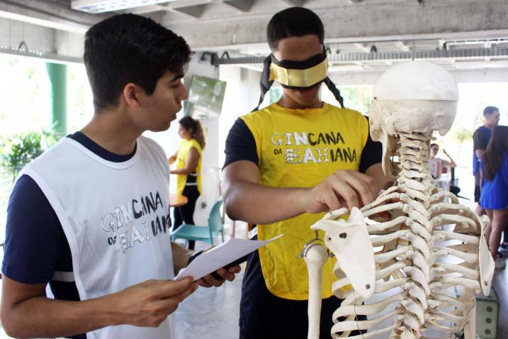
[[[174,230],[182,223],[194,224],[196,201],[202,193],[201,160],[205,148],[205,133],[198,120],[184,116],[179,123],[178,133],[182,140],[176,153],[169,157],[170,165],[176,162],[176,169],[170,173],[176,174],[176,194],[183,194],[188,201],[174,209]],[[188,248],[193,250],[195,243],[194,240],[188,240]]]

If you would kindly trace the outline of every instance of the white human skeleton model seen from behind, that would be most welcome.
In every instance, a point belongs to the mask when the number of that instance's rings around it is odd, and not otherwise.
[[[311,226],[324,230],[324,244],[337,257],[332,291],[344,301],[333,314],[332,338],[352,330],[366,333],[350,338],[455,338],[462,329],[465,339],[475,338],[475,296],[490,293],[494,272],[483,236],[488,219],[436,187],[429,172],[431,134],[451,128],[456,83],[430,62],[405,62],[383,74],[373,96],[371,135],[383,143],[383,172],[396,182],[373,203],[354,208],[347,221],[339,218],[349,211],[339,209]],[[309,338],[319,338],[328,251],[315,239],[302,253]],[[446,294],[450,288],[458,296]],[[390,296],[363,304],[383,292]],[[355,320],[361,315],[368,320]],[[391,325],[383,327],[387,320]]]

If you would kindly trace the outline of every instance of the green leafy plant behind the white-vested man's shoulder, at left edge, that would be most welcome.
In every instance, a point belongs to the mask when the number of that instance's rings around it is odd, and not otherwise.
[[[51,132],[28,132],[0,139],[0,165],[16,179],[18,172],[55,143]]]

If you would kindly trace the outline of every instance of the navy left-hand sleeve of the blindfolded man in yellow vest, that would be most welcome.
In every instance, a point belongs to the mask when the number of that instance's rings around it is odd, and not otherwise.
[[[254,140],[254,135],[252,135],[251,130],[249,130],[249,127],[247,127],[247,124],[241,118],[237,118],[237,121],[235,121],[230,129],[230,133],[228,133],[226,138],[224,152],[226,160],[222,168],[240,160],[252,161],[259,167],[256,140]]]

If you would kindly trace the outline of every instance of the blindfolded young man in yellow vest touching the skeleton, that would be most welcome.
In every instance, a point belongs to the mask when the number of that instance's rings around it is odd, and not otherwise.
[[[242,287],[240,338],[307,338],[308,278],[305,243],[326,211],[363,206],[387,184],[381,145],[357,111],[320,100],[327,77],[324,28],[315,13],[290,8],[268,25],[272,55],[265,61],[261,99],[273,81],[283,86],[276,104],[239,118],[226,141],[228,215],[257,225],[259,240],[283,233],[249,258]],[[322,238],[323,234],[320,234]],[[334,260],[324,267],[321,336],[330,338]]]

